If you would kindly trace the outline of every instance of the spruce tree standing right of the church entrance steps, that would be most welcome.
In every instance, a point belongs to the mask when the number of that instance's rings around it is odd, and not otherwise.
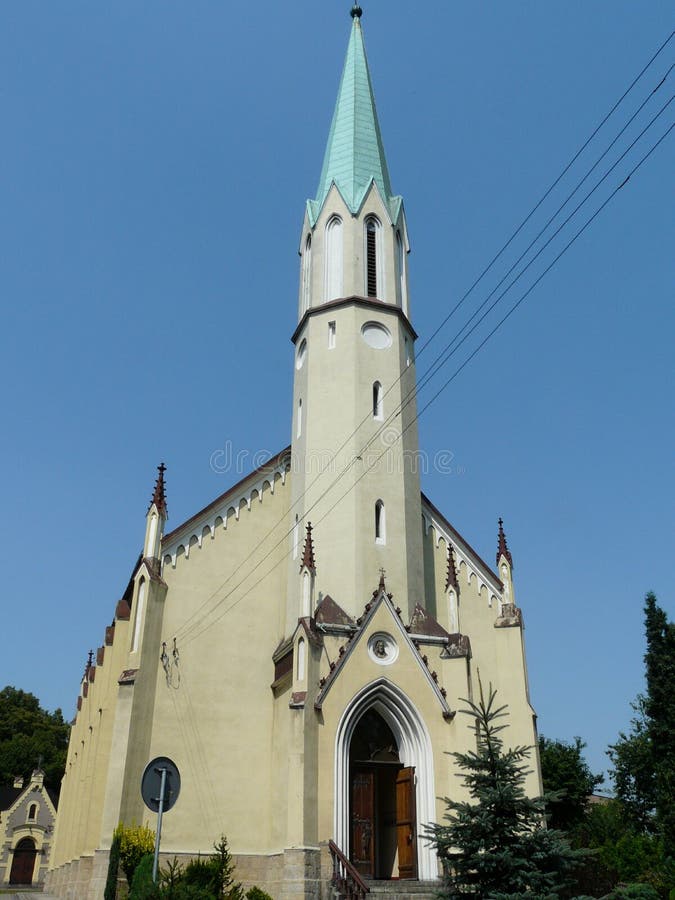
[[[480,685],[480,681],[479,681]],[[462,770],[471,801],[445,798],[444,824],[427,827],[443,867],[441,897],[557,897],[570,873],[587,856],[572,850],[559,831],[548,830],[545,798],[530,798],[525,778],[530,747],[505,749],[506,706],[497,706],[490,686],[480,685],[478,704],[464,701],[477,747],[451,753]]]

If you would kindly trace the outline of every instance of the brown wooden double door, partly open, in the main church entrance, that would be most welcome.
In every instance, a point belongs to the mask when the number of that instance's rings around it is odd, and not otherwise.
[[[417,878],[415,769],[352,765],[350,861],[366,878]]]

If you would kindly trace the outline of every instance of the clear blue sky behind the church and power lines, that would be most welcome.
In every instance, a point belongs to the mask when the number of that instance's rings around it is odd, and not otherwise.
[[[3,5],[0,686],[67,717],[155,466],[175,527],[236,480],[209,464],[225,442],[290,441],[297,246],[349,5]],[[672,4],[363,6],[422,342],[668,36]],[[674,56],[675,40],[568,190]],[[425,450],[454,454],[424,489],[489,561],[504,517],[541,731],[580,735],[596,770],[642,688],[645,592],[675,612],[674,148],[675,132],[420,422]]]

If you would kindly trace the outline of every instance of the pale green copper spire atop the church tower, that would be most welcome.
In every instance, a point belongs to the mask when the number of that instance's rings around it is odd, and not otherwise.
[[[377,120],[373,86],[361,31],[361,9],[352,9],[352,33],[347,47],[333,121],[330,126],[316,199],[308,202],[312,224],[335,183],[350,211],[356,214],[375,181],[395,218],[400,198],[394,197]]]

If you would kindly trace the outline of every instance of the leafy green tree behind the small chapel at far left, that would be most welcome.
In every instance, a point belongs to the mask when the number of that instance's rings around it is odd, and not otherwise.
[[[39,763],[45,784],[58,791],[69,733],[60,709],[47,712],[33,694],[7,685],[0,691],[0,784],[27,779]]]

